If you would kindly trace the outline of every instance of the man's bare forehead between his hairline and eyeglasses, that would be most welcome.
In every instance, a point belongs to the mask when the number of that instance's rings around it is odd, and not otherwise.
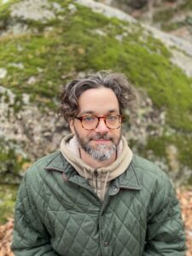
[[[113,90],[99,87],[85,90],[79,96],[79,113],[119,113],[119,102]]]

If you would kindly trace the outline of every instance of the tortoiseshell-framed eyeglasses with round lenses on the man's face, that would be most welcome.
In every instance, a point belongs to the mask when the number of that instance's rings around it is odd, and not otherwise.
[[[85,130],[94,130],[99,125],[100,119],[104,119],[105,125],[108,129],[118,129],[123,121],[123,115],[112,114],[108,116],[95,116],[95,115],[84,115],[81,117],[75,117],[81,121],[81,125]]]

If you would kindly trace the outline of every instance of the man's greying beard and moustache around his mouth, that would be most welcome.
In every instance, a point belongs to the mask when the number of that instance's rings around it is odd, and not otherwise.
[[[109,160],[113,154],[117,152],[117,146],[120,141],[120,136],[119,138],[114,141],[113,137],[108,137],[107,134],[96,134],[95,136],[92,137],[80,137],[79,133],[76,131],[76,137],[78,138],[79,145],[82,149],[87,154],[90,154],[90,156],[98,161],[105,161]],[[99,139],[104,139],[104,140],[109,140],[112,144],[111,145],[106,145],[106,144],[99,144],[99,145],[91,145],[92,140],[99,140]]]

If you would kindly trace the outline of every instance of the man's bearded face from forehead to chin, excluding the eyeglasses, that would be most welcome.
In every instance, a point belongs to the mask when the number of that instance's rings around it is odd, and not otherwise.
[[[119,114],[119,102],[113,90],[96,88],[85,90],[79,96],[78,117],[86,115],[108,116]],[[93,130],[87,131],[79,119],[69,121],[71,131],[78,137],[80,147],[95,160],[109,160],[116,152],[121,129],[109,129],[104,119]]]

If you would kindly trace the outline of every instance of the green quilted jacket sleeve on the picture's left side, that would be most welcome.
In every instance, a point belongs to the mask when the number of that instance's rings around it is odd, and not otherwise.
[[[26,176],[20,183],[15,205],[15,228],[11,248],[15,256],[59,256],[51,247],[49,233],[32,205]]]

